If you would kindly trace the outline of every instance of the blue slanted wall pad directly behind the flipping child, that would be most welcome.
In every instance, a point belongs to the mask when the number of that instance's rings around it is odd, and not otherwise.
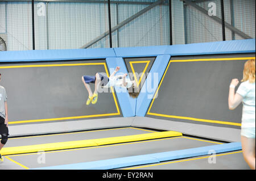
[[[110,74],[113,73],[117,66],[120,66],[120,70],[115,75],[122,75],[124,73],[128,73],[123,58],[106,58],[106,64],[108,65]],[[117,94],[118,102],[121,107],[123,117],[135,116],[136,99],[131,98],[130,95],[128,94],[128,91],[126,89],[123,89],[122,87],[115,87],[115,93]]]

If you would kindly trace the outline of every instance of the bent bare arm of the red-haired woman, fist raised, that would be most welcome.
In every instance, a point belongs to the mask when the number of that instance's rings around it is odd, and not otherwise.
[[[235,94],[235,87],[238,85],[238,79],[232,79],[229,86],[229,110],[234,110],[243,100],[240,94]]]

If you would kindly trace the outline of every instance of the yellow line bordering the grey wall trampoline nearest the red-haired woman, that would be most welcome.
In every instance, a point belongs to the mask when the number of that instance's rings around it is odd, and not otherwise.
[[[226,124],[226,125],[235,125],[241,127],[241,123],[232,123],[228,121],[218,121],[218,120],[207,120],[207,119],[198,119],[194,117],[184,117],[184,116],[174,116],[174,115],[164,115],[160,113],[152,113],[150,112],[152,105],[155,101],[155,97],[158,94],[158,91],[160,89],[160,86],[162,85],[163,79],[166,76],[166,72],[171,64],[171,62],[196,62],[196,61],[232,61],[232,60],[250,60],[255,59],[255,57],[237,57],[237,58],[201,58],[201,59],[188,59],[188,60],[170,60],[166,70],[164,71],[163,78],[161,79],[158,89],[155,92],[154,98],[152,99],[152,102],[150,104],[150,107],[148,108],[147,114],[153,115],[153,116],[160,116],[160,117],[170,117],[170,118],[176,118],[176,119],[185,119],[185,120],[193,120],[193,121],[201,121],[206,123],[216,123],[216,124]]]

